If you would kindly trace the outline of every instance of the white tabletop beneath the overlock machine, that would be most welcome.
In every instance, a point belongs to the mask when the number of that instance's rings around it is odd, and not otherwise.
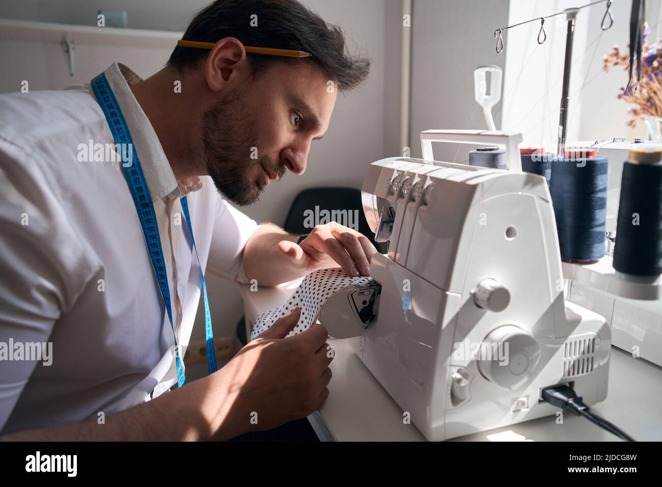
[[[280,307],[300,281],[250,290],[239,285],[247,327],[260,313]],[[247,329],[247,337],[250,329]],[[308,420],[322,441],[424,441],[414,424],[402,423],[402,409],[359,360],[350,341],[330,340],[335,349],[329,398]],[[662,441],[662,367],[612,347],[609,390],[604,402],[591,406],[638,441]],[[565,415],[542,417],[508,427],[474,433],[456,441],[619,441],[587,419]]]

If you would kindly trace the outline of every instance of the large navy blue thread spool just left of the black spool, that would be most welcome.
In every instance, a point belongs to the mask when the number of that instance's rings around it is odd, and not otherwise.
[[[604,256],[607,158],[552,160],[549,193],[561,260],[586,263]]]

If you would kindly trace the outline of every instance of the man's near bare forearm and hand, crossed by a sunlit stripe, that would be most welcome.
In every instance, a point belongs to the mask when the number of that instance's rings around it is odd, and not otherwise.
[[[322,325],[285,338],[300,313],[273,323],[211,376],[109,414],[103,424],[30,429],[0,441],[224,440],[306,417],[328,398],[333,358]]]

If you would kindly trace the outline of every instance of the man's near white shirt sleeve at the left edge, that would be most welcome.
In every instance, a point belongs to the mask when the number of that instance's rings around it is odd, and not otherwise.
[[[70,271],[82,277],[89,270],[76,240],[44,174],[23,150],[0,140],[0,431],[35,366],[50,360],[26,360],[34,353],[20,356],[19,349],[48,347],[81,288]]]

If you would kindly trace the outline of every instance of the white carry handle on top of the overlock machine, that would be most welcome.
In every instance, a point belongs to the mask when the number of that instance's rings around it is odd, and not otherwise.
[[[434,160],[432,142],[459,142],[461,144],[489,144],[506,148],[506,163],[508,170],[522,172],[522,159],[519,145],[522,134],[503,131],[461,131],[461,130],[429,130],[420,133],[420,147],[423,158]]]

